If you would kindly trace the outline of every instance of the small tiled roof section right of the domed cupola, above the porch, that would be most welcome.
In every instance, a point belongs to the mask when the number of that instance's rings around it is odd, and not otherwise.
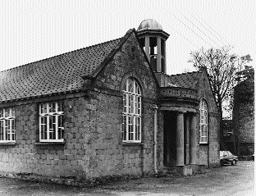
[[[177,87],[194,89],[201,75],[202,71],[194,71],[177,75],[168,75],[168,83],[174,84]]]

